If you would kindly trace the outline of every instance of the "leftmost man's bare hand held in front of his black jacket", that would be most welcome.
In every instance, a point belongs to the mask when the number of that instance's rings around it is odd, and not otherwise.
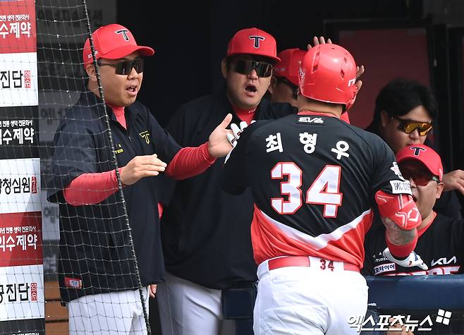
[[[136,156],[121,168],[121,183],[132,185],[144,177],[158,176],[166,169],[167,164],[158,158],[157,154]]]

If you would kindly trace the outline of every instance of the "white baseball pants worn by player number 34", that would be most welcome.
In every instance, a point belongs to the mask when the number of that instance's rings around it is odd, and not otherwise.
[[[367,311],[367,284],[359,272],[319,266],[310,257],[309,267],[258,267],[258,294],[254,310],[255,335],[358,334],[348,317]]]

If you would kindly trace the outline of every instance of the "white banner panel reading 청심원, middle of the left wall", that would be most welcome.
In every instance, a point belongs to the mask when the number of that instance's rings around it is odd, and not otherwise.
[[[40,159],[0,159],[0,214],[39,212]]]

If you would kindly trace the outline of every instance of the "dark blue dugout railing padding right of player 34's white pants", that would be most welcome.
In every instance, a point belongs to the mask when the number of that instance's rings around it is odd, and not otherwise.
[[[444,276],[366,276],[369,286],[369,307],[362,322],[364,328],[372,328],[367,322],[372,316],[379,327],[381,316],[410,316],[409,324],[417,321],[414,334],[464,334],[464,274]],[[424,321],[418,331],[418,324]],[[429,326],[429,320],[432,325]],[[405,324],[408,324],[407,322]],[[411,329],[413,330],[413,329]],[[361,334],[380,335],[382,330],[362,331]],[[398,332],[400,334],[400,332]]]

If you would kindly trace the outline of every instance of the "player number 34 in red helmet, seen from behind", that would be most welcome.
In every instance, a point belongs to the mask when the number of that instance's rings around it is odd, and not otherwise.
[[[348,317],[367,310],[360,268],[375,206],[386,226],[384,256],[426,268],[413,251],[421,217],[393,152],[340,120],[362,85],[355,78],[346,49],[319,44],[301,64],[297,115],[232,128],[240,139],[223,187],[250,188],[255,200],[257,335],[356,333]]]

